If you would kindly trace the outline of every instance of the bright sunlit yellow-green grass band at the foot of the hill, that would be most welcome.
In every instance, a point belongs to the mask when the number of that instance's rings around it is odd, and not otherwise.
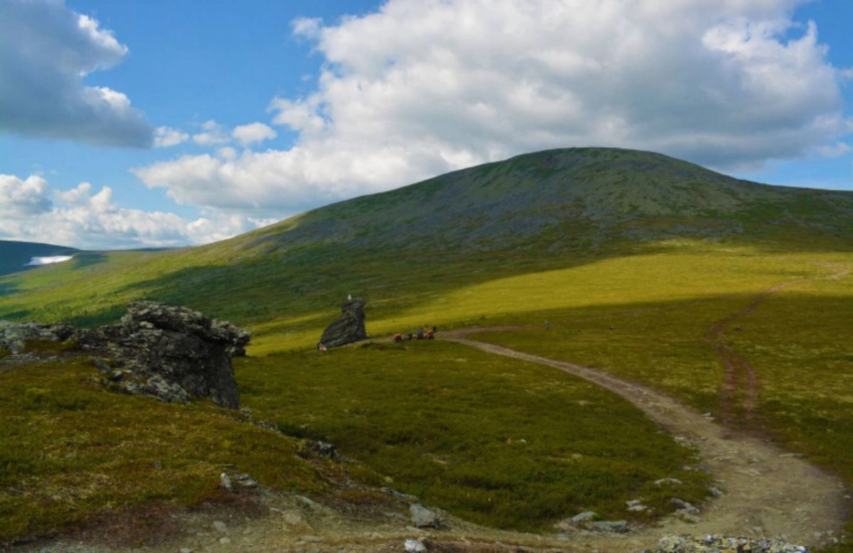
[[[479,276],[478,265],[447,276],[415,279],[368,294],[368,335],[390,335],[422,326],[439,329],[497,324],[541,325],[548,317],[602,317],[660,306],[663,303],[714,299],[721,295],[757,294],[775,283],[820,276],[809,254],[773,254],[751,247],[681,241],[659,244],[655,251],[621,257],[508,261],[493,277]],[[832,259],[824,255],[823,258]],[[562,268],[550,268],[562,262]],[[485,262],[484,262],[485,263]],[[544,267],[544,269],[543,269]],[[509,276],[503,276],[508,273]],[[450,280],[450,286],[445,282]],[[358,292],[358,290],[356,290]],[[293,317],[281,312],[259,323],[256,354],[316,345],[322,328],[337,317],[328,311]]]

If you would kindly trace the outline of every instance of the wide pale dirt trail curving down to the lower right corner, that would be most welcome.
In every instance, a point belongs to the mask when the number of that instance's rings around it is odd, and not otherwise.
[[[802,458],[761,439],[735,433],[652,388],[601,370],[474,341],[465,337],[470,333],[456,331],[442,337],[496,355],[546,364],[595,382],[618,393],[660,427],[699,450],[705,469],[720,481],[725,492],[706,506],[702,513],[705,521],[664,521],[660,527],[623,538],[618,543],[628,546],[624,550],[653,546],[663,533],[784,534],[793,542],[815,546],[841,531],[850,508],[843,483]],[[606,550],[617,550],[611,549],[616,545],[609,544]]]

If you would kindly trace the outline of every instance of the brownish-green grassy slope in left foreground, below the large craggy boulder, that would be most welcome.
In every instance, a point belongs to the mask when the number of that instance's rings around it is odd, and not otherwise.
[[[209,401],[170,405],[107,392],[88,357],[0,366],[0,544],[231,497],[219,474],[332,497],[334,479],[380,484],[357,464],[299,457],[300,441]]]

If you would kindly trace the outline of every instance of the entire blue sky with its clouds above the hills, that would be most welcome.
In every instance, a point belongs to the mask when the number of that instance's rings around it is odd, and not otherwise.
[[[212,242],[543,148],[853,190],[850,0],[0,0],[0,239]]]

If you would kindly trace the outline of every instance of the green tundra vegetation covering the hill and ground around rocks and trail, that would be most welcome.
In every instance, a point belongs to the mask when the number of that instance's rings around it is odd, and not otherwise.
[[[664,515],[672,507],[652,484],[664,477],[685,482],[685,500],[705,496],[691,451],[560,371],[440,340],[313,351],[350,293],[369,300],[369,335],[514,327],[478,339],[658,387],[853,485],[851,220],[850,193],[578,148],[204,247],[78,253],[4,277],[0,318],[109,323],[148,299],[250,329],[235,363],[241,402],[287,436],[205,402],[103,392],[74,352],[3,369],[0,539],[110,509],[199,504],[218,497],[223,463],[275,489],[339,494],[328,473],[343,469],[296,456],[302,438],[339,445],[364,482],[496,527],[547,530],[587,509],[643,519],[625,511],[638,497]],[[727,368],[719,341],[754,377]],[[145,476],[158,460],[174,489]]]

